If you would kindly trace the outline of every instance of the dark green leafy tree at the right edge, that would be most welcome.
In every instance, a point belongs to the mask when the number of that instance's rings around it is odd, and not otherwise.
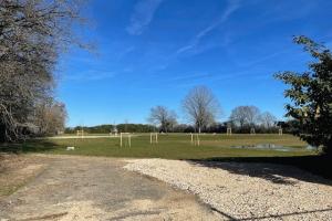
[[[284,96],[287,116],[298,122],[294,134],[310,145],[332,154],[332,54],[325,46],[307,36],[295,36],[294,43],[314,59],[303,73],[282,72],[276,77],[290,85]]]

